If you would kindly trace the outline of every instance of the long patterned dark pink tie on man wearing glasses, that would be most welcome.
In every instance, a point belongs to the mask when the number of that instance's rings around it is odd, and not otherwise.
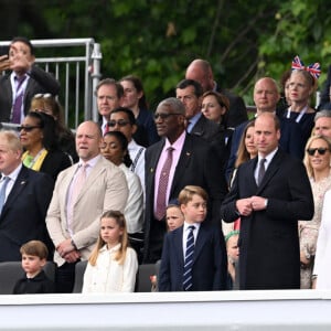
[[[169,182],[169,173],[172,164],[172,151],[174,150],[173,147],[167,148],[167,159],[162,167],[160,178],[159,178],[159,188],[158,188],[158,195],[157,195],[157,207],[156,207],[156,218],[161,221],[166,215],[166,207],[167,207],[167,189]]]

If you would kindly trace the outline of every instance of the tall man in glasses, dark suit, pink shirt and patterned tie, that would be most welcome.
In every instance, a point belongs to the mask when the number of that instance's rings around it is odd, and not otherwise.
[[[227,192],[214,147],[185,131],[185,107],[180,99],[162,100],[154,120],[162,139],[146,150],[145,263],[161,258],[166,206],[184,186],[197,185],[207,192],[207,222],[218,226],[220,232],[220,207]]]

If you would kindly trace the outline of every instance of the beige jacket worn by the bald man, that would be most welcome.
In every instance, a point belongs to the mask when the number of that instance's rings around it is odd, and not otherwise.
[[[62,171],[56,180],[49,206],[46,225],[55,247],[70,238],[66,222],[66,200],[71,181],[78,163]],[[124,172],[100,157],[90,170],[74,205],[72,228],[82,259],[86,260],[98,237],[100,216],[105,211],[124,212],[128,197],[128,185]],[[65,260],[55,252],[54,261],[62,266]]]

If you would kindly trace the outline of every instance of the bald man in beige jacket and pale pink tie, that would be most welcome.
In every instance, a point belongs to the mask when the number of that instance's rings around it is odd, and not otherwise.
[[[100,154],[102,143],[102,130],[96,122],[81,124],[76,132],[79,162],[61,172],[55,183],[46,224],[56,249],[58,292],[72,291],[75,264],[88,258],[99,234],[102,214],[109,210],[124,212],[127,202],[126,178]],[[76,193],[83,167],[86,179]]]

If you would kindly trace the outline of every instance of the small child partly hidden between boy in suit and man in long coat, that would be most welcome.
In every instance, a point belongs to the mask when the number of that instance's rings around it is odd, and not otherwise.
[[[225,236],[226,253],[227,253],[227,273],[229,276],[229,289],[238,289],[238,269],[239,247],[238,247],[239,231],[232,231]]]

